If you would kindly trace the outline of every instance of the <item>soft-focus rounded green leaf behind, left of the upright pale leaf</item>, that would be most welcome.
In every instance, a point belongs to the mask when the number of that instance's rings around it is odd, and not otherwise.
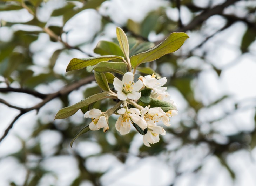
[[[111,41],[100,41],[94,49],[94,53],[100,55],[117,55],[124,57],[120,47],[116,43]]]

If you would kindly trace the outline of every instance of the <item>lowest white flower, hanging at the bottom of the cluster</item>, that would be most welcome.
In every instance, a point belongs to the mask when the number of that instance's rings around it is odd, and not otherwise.
[[[143,136],[143,143],[150,146],[149,143],[154,144],[159,142],[159,134],[165,135],[163,127],[157,126],[155,123],[148,126],[148,132]]]

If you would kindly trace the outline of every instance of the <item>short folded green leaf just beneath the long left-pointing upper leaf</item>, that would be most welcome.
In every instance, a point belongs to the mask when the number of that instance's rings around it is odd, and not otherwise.
[[[100,62],[94,69],[96,72],[116,72],[124,74],[127,71],[127,65],[123,62]]]

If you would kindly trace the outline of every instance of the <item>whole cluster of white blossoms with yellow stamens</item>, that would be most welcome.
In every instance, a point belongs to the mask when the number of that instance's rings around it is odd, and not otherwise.
[[[162,87],[166,84],[166,77],[156,78],[156,76],[148,75],[145,77],[140,76],[139,80],[134,83],[134,75],[132,72],[124,74],[122,81],[118,78],[114,78],[114,88],[119,100],[122,101],[120,108],[117,108],[116,114],[120,115],[116,121],[115,127],[121,135],[129,133],[131,124],[136,124],[141,130],[146,131],[143,136],[143,143],[146,146],[157,143],[159,141],[159,134],[165,135],[163,127],[158,126],[158,122],[162,122],[165,126],[170,126],[170,117],[177,115],[175,103],[170,99],[170,95],[166,92],[167,87]],[[174,109],[170,109],[166,112],[163,111],[161,106],[159,107],[142,107],[137,104],[137,100],[141,97],[141,90],[150,89],[150,98],[165,101],[174,105]],[[135,108],[134,108],[135,107]],[[112,114],[112,113],[111,113]],[[92,122],[89,124],[90,130],[99,130],[103,128],[106,132],[109,129],[108,126],[108,113],[101,112],[99,109],[92,109],[85,113],[85,117],[91,118]]]

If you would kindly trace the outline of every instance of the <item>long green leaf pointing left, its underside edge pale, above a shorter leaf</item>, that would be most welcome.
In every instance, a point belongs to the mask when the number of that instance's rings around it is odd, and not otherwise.
[[[93,65],[98,64],[99,62],[109,61],[109,60],[112,60],[112,59],[123,60],[123,57],[108,55],[108,56],[89,57],[89,58],[83,58],[83,59],[73,58],[69,62],[68,66],[67,66],[67,69],[66,69],[66,72],[72,71],[72,70],[83,69],[87,66],[93,66]]]

